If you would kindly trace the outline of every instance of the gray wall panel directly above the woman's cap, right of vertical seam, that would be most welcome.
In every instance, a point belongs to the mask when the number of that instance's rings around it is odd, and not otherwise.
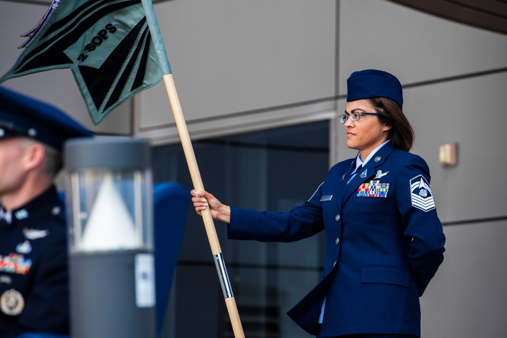
[[[507,67],[507,35],[384,0],[341,0],[339,93],[355,70],[390,71],[402,84]]]

